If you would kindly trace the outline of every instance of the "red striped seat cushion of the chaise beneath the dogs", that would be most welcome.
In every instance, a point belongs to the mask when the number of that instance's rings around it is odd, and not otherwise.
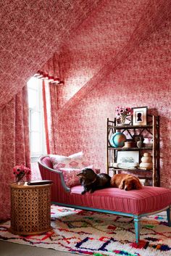
[[[72,187],[65,203],[132,214],[155,212],[171,205],[171,190],[159,187],[144,186],[130,191],[108,188],[84,195],[81,191],[82,186]]]

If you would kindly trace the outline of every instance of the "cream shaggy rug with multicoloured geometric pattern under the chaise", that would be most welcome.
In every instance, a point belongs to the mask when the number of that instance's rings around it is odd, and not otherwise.
[[[171,228],[165,212],[141,220],[141,241],[135,244],[133,218],[51,206],[53,231],[35,236],[9,233],[10,222],[0,224],[0,239],[93,256],[171,255]]]

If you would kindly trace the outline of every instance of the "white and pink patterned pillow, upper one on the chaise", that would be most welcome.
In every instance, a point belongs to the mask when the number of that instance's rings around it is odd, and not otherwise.
[[[54,170],[59,168],[74,168],[82,169],[86,168],[88,162],[86,162],[83,152],[71,154],[69,157],[65,157],[57,154],[49,155]]]

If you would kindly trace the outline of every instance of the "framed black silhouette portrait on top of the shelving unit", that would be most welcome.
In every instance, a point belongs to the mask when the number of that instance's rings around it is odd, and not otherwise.
[[[147,107],[133,107],[133,125],[147,124]]]

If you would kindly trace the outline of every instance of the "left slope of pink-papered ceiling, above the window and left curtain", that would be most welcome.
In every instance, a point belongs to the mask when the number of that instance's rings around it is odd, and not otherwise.
[[[101,0],[2,0],[0,108],[58,51]]]

